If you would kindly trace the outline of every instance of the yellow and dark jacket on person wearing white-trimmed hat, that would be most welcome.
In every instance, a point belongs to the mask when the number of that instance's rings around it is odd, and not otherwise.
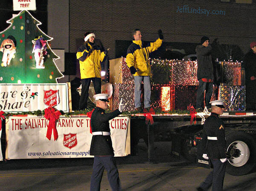
[[[82,45],[79,47],[76,58],[80,64],[81,79],[99,77],[101,78],[101,62],[105,58],[105,54],[100,50],[98,45]]]

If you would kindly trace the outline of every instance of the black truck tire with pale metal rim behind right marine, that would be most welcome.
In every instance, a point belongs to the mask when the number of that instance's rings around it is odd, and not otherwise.
[[[248,174],[256,165],[256,143],[250,134],[233,131],[226,135],[228,174],[240,176]]]

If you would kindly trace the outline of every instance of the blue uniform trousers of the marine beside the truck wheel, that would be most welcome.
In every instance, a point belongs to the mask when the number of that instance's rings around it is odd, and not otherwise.
[[[212,191],[222,191],[223,182],[226,170],[226,162],[218,160],[212,160],[213,171],[209,173],[204,182],[201,183],[200,187],[207,191],[212,185]]]

